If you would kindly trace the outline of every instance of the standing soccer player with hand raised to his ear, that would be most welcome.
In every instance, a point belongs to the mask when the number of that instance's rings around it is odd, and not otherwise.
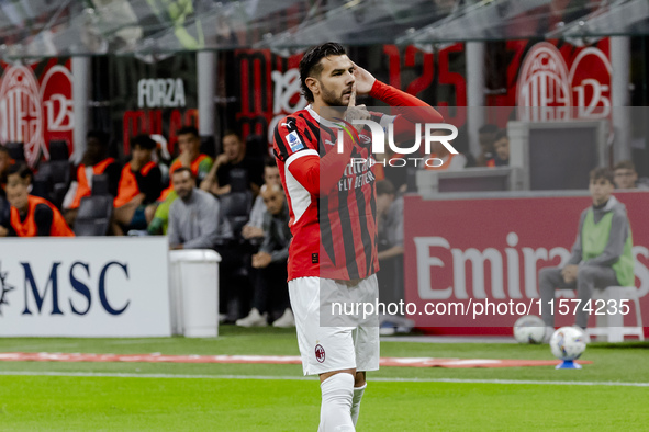
[[[321,291],[365,302],[378,297],[376,189],[369,160],[371,137],[353,120],[371,118],[395,136],[414,135],[413,122],[441,122],[426,103],[387,86],[356,66],[336,43],[311,48],[300,62],[302,91],[311,103],[275,129],[273,151],[290,211],[289,294],[305,375],[320,375],[321,431],[354,431],[366,372],[379,368],[374,326],[322,326]],[[369,94],[391,106],[425,106],[410,118],[356,106]],[[347,107],[338,120],[328,107]],[[344,150],[337,151],[344,128]],[[318,212],[320,211],[320,212]],[[326,303],[326,302],[325,302]]]

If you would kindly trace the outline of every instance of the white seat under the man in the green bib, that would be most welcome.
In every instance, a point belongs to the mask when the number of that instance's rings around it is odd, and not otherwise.
[[[628,299],[635,304],[636,327],[624,326],[624,315],[620,310],[622,299]],[[608,310],[609,300],[615,302],[617,314],[597,315],[597,327],[586,329],[586,333],[590,337],[603,336],[606,337],[608,342],[623,342],[625,336],[637,336],[640,341],[645,340],[638,288],[635,286],[609,286],[605,289],[595,289],[593,292],[593,300],[606,302],[604,311]],[[598,306],[593,306],[593,308],[596,310]]]

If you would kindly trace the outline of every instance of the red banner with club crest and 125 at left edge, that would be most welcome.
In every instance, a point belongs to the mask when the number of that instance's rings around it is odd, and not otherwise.
[[[69,58],[29,66],[0,62],[0,141],[22,141],[30,166],[49,158],[51,140],[72,154],[72,76]]]

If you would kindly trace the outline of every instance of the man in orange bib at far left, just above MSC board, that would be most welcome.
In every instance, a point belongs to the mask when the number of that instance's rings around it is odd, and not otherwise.
[[[10,226],[0,228],[2,236],[74,237],[63,215],[45,198],[29,194],[32,171],[24,163],[9,168],[7,198],[11,204]]]

